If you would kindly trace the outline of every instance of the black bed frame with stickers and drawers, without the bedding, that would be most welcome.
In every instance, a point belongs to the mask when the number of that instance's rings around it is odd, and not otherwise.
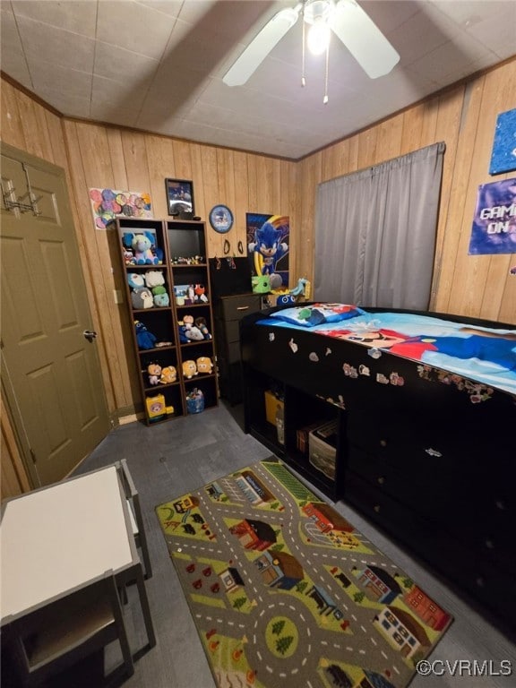
[[[516,397],[395,354],[371,357],[348,340],[256,324],[276,310],[241,322],[245,431],[516,634]],[[271,390],[284,400],[285,445],[266,417]],[[299,428],[320,419],[337,421],[334,479],[297,448]]]

